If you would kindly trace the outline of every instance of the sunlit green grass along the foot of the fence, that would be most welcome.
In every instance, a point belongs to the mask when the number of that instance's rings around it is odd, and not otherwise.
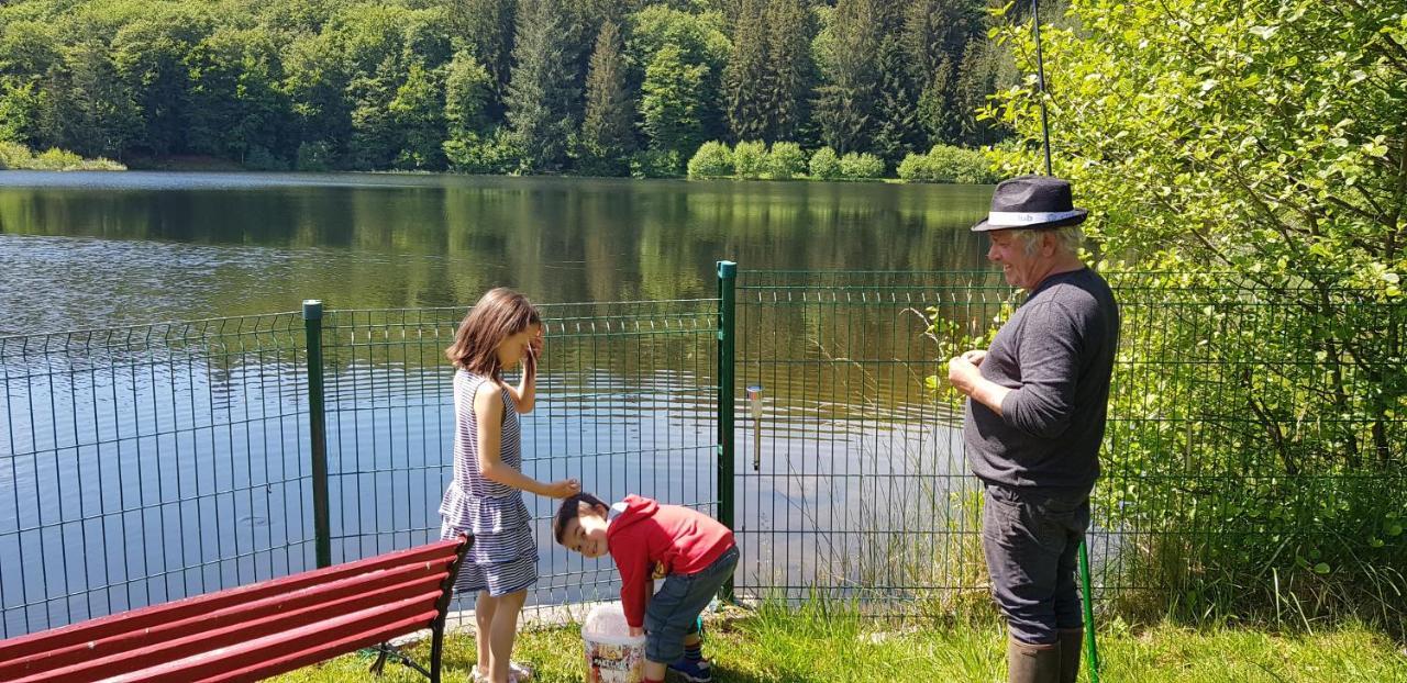
[[[709,621],[705,655],[713,658],[719,682],[1005,682],[1003,638],[995,623],[938,625],[764,607]],[[1403,644],[1358,625],[1273,632],[1113,624],[1100,632],[1099,646],[1102,680],[1109,683],[1407,683]],[[412,655],[424,661],[428,651],[422,642]],[[450,637],[445,652],[445,680],[467,680],[473,638]],[[581,652],[577,628],[549,628],[519,634],[514,659],[536,666],[542,683],[568,683],[582,680]],[[370,662],[350,655],[274,680],[363,682]],[[424,679],[387,665],[383,680]]]

